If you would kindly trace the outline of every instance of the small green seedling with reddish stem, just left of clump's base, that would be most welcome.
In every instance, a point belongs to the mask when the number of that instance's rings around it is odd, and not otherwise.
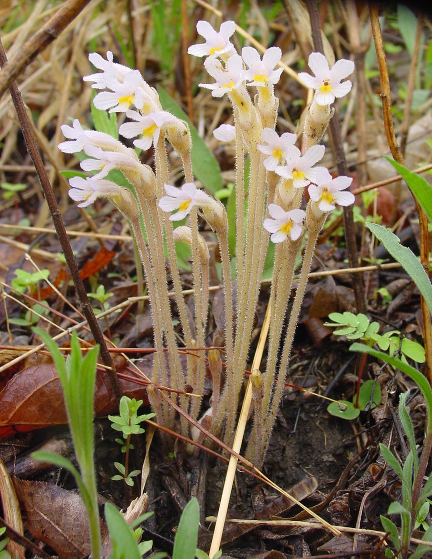
[[[108,419],[112,422],[111,427],[116,431],[120,431],[123,435],[123,439],[118,438],[116,442],[121,444],[121,451],[126,454],[125,465],[120,462],[114,462],[114,466],[120,472],[115,476],[112,476],[112,480],[119,481],[123,480],[127,485],[134,485],[132,477],[139,475],[140,470],[128,471],[129,468],[129,451],[134,448],[134,445],[130,442],[131,435],[138,435],[144,433],[144,429],[141,427],[141,423],[147,419],[151,419],[155,414],[144,414],[138,415],[137,411],[143,404],[143,400],[135,400],[135,398],[129,398],[128,396],[122,396],[120,400],[120,415],[108,415]]]

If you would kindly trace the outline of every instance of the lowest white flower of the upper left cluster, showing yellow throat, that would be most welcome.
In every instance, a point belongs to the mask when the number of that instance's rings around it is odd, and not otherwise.
[[[175,121],[175,116],[167,111],[151,112],[145,116],[136,111],[126,111],[126,116],[134,121],[122,124],[118,132],[125,138],[142,136],[142,138],[134,140],[134,145],[140,149],[149,149],[152,143],[156,145],[161,127]]]

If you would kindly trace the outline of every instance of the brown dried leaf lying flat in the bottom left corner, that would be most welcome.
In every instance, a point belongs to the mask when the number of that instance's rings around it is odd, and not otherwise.
[[[15,489],[27,513],[27,529],[48,543],[59,559],[82,559],[91,552],[86,507],[77,493],[42,481],[15,479]],[[101,520],[102,536],[107,528]]]

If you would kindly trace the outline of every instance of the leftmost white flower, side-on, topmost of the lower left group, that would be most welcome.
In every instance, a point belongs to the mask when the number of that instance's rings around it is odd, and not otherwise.
[[[128,148],[121,143],[121,141],[116,140],[110,134],[105,132],[97,132],[96,130],[84,130],[79,124],[79,120],[75,119],[72,126],[63,124],[61,126],[61,131],[65,138],[69,138],[70,141],[63,141],[59,144],[59,150],[63,153],[77,153],[81,151],[87,144],[96,145],[99,148],[110,150],[110,151],[120,151],[122,153],[128,153]]]

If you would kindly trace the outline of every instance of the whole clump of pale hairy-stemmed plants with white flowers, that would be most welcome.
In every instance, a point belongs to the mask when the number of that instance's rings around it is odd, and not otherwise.
[[[106,59],[92,53],[89,60],[101,70],[84,77],[98,91],[94,107],[110,113],[125,113],[120,125],[120,136],[131,139],[136,148],[154,149],[154,169],[140,163],[134,149],[106,132],[86,130],[75,120],[72,126],[61,127],[66,141],[59,144],[64,153],[84,151],[88,159],[80,163],[83,170],[93,175],[86,179],[69,180],[69,195],[86,207],[97,198],[107,198],[129,221],[143,263],[151,311],[154,320],[153,381],[180,391],[179,404],[194,419],[199,419],[201,400],[190,399],[185,387],[191,386],[202,394],[205,379],[205,357],[188,356],[187,371],[179,359],[177,337],[172,323],[165,266],[165,247],[169,259],[170,276],[175,291],[175,302],[187,347],[205,347],[208,309],[208,249],[198,230],[198,216],[212,229],[219,243],[222,280],[225,293],[225,381],[221,367],[213,366],[213,402],[206,411],[206,425],[215,435],[225,434],[232,442],[236,410],[248,357],[253,318],[257,306],[260,278],[269,240],[276,245],[274,274],[270,293],[272,321],[267,369],[260,375],[260,413],[249,443],[249,458],[259,465],[272,431],[281,401],[288,359],[295,333],[298,313],[305,292],[317,236],[336,204],[348,206],[354,202],[352,193],[345,191],[352,179],[333,178],[325,167],[317,166],[325,147],[319,141],[333,116],[331,104],[351,89],[345,80],[353,70],[349,60],[339,60],[329,67],[319,53],[309,57],[309,67],[315,76],[299,75],[305,86],[315,89],[315,96],[306,109],[303,152],[295,145],[297,136],[275,131],[278,98],[274,86],[281,77],[277,68],[282,52],[269,48],[261,57],[257,50],[246,46],[237,53],[230,38],[235,23],[222,23],[214,30],[210,23],[197,23],[198,33],[205,42],[193,45],[188,52],[205,56],[204,68],[210,83],[200,87],[211,91],[213,97],[227,96],[231,103],[234,125],[221,125],[215,136],[221,141],[235,141],[236,146],[236,277],[237,303],[234,305],[231,285],[231,260],[228,244],[228,219],[224,205],[204,192],[194,182],[191,162],[191,131],[186,122],[164,111],[158,93],[147,84],[138,70],[113,61],[108,51]],[[124,120],[124,119],[122,119]],[[183,162],[184,184],[169,184],[167,141]],[[245,154],[250,159],[248,184],[245,184]],[[127,186],[120,186],[110,178],[110,171],[121,170]],[[308,189],[306,209],[300,209],[303,192]],[[246,195],[247,192],[247,195]],[[246,207],[246,212],[244,208]],[[187,225],[175,228],[178,221]],[[270,236],[271,235],[271,236]],[[306,240],[300,282],[288,328],[282,339],[283,324],[295,269],[296,255]],[[188,319],[182,293],[180,274],[175,257],[175,241],[186,241],[192,250],[194,282],[194,323]],[[281,346],[282,342],[282,346]],[[279,348],[282,347],[279,355]],[[165,351],[167,350],[167,351]],[[210,355],[209,355],[210,357]],[[215,363],[219,358],[212,356]],[[217,374],[216,374],[217,371]],[[275,382],[276,379],[276,382]],[[257,391],[255,391],[257,392]],[[217,396],[217,397],[216,397]],[[170,396],[173,401],[177,397]],[[175,414],[159,389],[149,388],[149,399],[160,423],[173,427]],[[255,409],[258,409],[255,405]],[[188,435],[187,421],[181,417],[180,429]]]

